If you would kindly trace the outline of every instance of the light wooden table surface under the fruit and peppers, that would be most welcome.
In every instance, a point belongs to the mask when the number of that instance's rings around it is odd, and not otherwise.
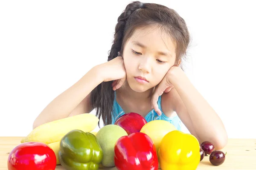
[[[20,144],[22,137],[0,137],[0,170],[8,170],[7,159],[14,147]],[[226,160],[219,166],[209,162],[209,156],[198,165],[197,170],[256,170],[256,139],[229,139],[226,147],[222,149]],[[116,170],[113,168],[100,168],[101,170]],[[55,170],[65,170],[57,165]]]

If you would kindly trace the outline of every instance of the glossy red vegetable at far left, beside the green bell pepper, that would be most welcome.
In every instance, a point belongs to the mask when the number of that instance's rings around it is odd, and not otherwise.
[[[9,154],[8,170],[55,170],[54,151],[42,142],[24,142]]]

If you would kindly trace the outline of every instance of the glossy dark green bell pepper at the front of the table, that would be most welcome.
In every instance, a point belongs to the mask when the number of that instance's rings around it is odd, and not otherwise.
[[[60,141],[58,159],[67,170],[98,170],[103,151],[92,133],[71,130]]]

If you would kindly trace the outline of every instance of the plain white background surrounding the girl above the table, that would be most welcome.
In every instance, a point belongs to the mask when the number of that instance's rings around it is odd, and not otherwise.
[[[26,136],[52,99],[107,61],[117,18],[130,2],[0,1],[0,136]],[[186,21],[193,38],[186,74],[229,138],[256,138],[253,1],[146,2]]]

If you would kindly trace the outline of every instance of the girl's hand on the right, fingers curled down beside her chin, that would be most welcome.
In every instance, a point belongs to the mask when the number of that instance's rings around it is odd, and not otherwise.
[[[155,88],[154,94],[152,95],[151,99],[151,105],[152,109],[154,108],[158,116],[162,114],[157,105],[158,97],[161,96],[163,93],[168,93],[169,91],[171,91],[171,89],[174,87],[172,83],[172,77],[177,77],[176,74],[179,74],[180,71],[182,71],[180,67],[172,66],[163,77],[162,81]]]

